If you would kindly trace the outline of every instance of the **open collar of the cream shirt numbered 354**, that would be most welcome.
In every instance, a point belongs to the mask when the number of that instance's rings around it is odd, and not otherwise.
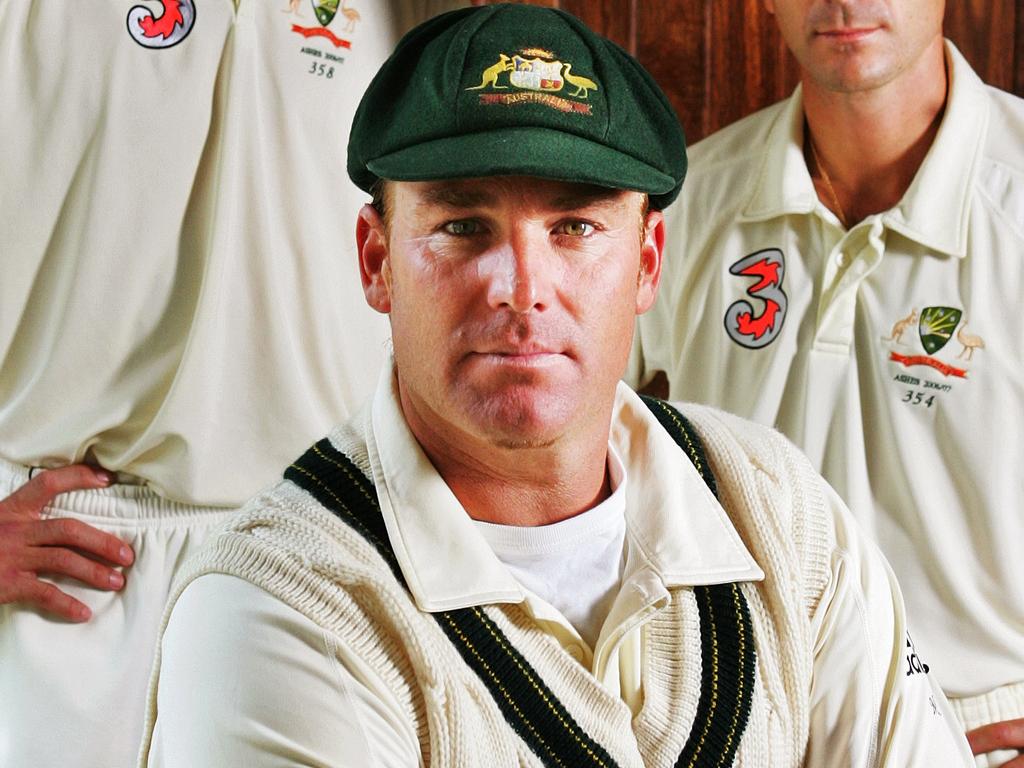
[[[945,54],[949,94],[942,123],[903,199],[882,214],[882,220],[926,248],[963,257],[971,195],[984,151],[988,99],[984,83],[948,40]],[[764,159],[740,221],[807,214],[820,206],[803,145],[803,91],[798,86],[769,128]]]

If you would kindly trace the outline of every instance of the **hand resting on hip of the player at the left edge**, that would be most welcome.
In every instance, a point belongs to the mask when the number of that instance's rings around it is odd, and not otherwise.
[[[112,481],[104,470],[74,464],[41,472],[0,501],[0,604],[25,603],[70,622],[86,622],[92,615],[88,606],[40,579],[42,573],[102,590],[124,586],[124,577],[104,563],[130,565],[135,555],[127,544],[81,520],[41,515],[59,494],[101,488]]]

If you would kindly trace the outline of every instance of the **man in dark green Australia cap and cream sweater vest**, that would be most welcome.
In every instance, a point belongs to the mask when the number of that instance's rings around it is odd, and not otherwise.
[[[807,460],[618,382],[685,173],[632,57],[453,11],[381,68],[348,168],[392,364],[183,568],[141,765],[971,764]]]

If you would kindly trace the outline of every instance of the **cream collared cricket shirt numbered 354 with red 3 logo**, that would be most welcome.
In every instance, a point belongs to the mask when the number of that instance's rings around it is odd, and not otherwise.
[[[804,162],[800,89],[692,147],[628,380],[665,371],[674,399],[793,439],[881,543],[945,690],[973,695],[1024,681],[1024,101],[946,60],[913,182],[849,231]]]

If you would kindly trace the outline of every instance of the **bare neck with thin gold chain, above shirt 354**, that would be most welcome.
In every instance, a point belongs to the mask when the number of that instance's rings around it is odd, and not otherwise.
[[[911,70],[879,88],[829,91],[806,73],[802,82],[804,156],[821,202],[846,227],[897,205],[942,120],[947,78],[941,38]]]

